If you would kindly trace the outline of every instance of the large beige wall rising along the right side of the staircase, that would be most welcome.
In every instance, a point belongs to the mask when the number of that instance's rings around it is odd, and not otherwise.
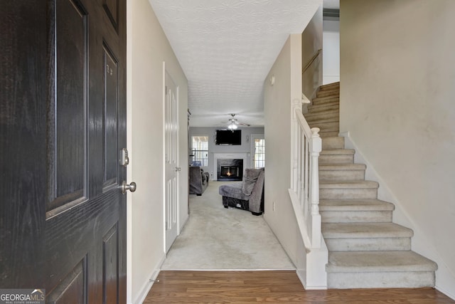
[[[455,298],[455,1],[343,0],[340,11],[340,130]]]

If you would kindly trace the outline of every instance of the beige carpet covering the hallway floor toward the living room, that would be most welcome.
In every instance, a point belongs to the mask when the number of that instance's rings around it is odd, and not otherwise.
[[[169,250],[162,270],[295,269],[262,216],[225,209],[212,182],[190,195],[191,214]]]

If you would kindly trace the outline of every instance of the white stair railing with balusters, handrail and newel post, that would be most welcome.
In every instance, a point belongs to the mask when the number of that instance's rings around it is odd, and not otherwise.
[[[301,112],[301,104],[294,107],[294,138],[292,140],[291,200],[298,201],[303,213],[304,243],[306,248],[321,248],[321,214],[319,213],[319,154],[322,140],[319,128],[310,128]],[[299,216],[298,216],[299,217]]]

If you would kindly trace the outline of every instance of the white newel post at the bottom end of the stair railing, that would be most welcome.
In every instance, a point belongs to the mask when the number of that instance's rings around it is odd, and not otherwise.
[[[321,247],[321,214],[319,214],[319,154],[322,150],[322,140],[319,136],[319,127],[311,128],[310,153],[310,202],[311,202],[311,245]]]

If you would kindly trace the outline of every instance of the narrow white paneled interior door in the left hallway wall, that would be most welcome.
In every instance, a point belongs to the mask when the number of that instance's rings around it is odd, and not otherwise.
[[[178,88],[171,76],[166,73],[165,79],[165,231],[166,252],[171,248],[178,235]]]

